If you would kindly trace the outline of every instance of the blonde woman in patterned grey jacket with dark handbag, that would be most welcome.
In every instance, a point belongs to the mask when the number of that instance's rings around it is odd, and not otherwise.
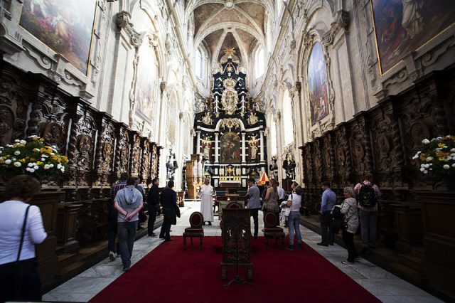
[[[358,211],[357,201],[355,200],[355,191],[352,187],[343,188],[345,200],[341,203],[341,213],[343,213],[343,241],[348,248],[348,260],[343,261],[343,264],[353,264],[355,258],[358,257],[357,250],[354,245],[354,235],[358,228]]]

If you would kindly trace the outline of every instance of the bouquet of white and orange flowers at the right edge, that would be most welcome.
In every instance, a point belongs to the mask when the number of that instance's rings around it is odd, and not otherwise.
[[[423,139],[424,149],[412,159],[419,161],[422,174],[432,171],[435,176],[455,178],[455,136]]]

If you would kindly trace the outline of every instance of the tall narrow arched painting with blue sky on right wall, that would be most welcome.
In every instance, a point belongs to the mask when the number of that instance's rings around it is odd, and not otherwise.
[[[308,90],[311,124],[328,115],[327,74],[322,45],[314,43],[308,60]]]

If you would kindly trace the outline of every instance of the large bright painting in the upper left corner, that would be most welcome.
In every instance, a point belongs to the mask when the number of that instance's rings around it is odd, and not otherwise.
[[[19,24],[87,74],[95,0],[23,0]]]

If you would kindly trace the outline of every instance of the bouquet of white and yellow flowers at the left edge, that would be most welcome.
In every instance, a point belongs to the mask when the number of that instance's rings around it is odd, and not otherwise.
[[[56,147],[44,143],[44,139],[31,136],[28,141],[16,140],[14,144],[0,147],[0,174],[6,178],[31,174],[40,179],[61,176],[68,170],[68,157]]]

